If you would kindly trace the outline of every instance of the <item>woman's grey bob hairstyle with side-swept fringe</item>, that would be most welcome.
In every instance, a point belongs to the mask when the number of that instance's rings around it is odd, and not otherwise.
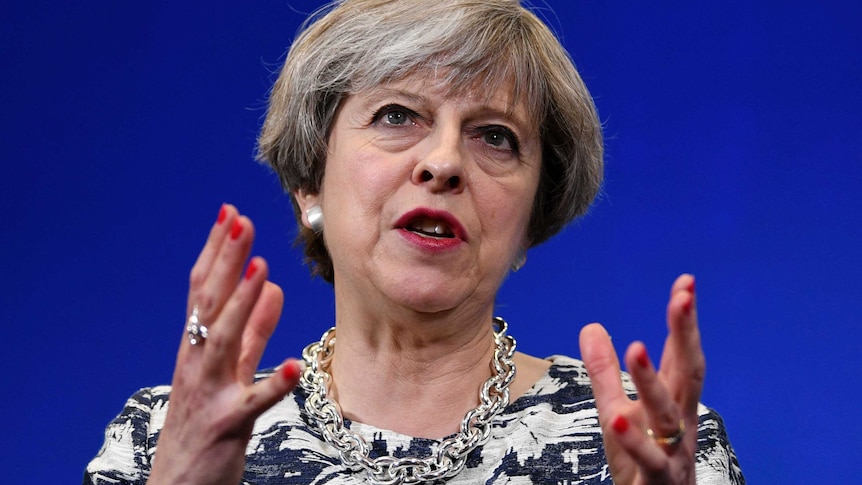
[[[531,246],[587,211],[602,181],[598,115],[565,49],[517,0],[343,0],[322,8],[294,41],[272,88],[258,159],[289,194],[317,193],[342,100],[423,70],[436,72],[453,93],[511,89],[514,103],[532,115],[542,169]],[[295,200],[293,208],[301,221]],[[298,241],[312,273],[332,282],[323,234],[300,222]]]

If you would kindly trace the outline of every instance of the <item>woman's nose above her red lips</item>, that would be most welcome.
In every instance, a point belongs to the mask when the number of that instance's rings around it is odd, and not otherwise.
[[[424,185],[436,193],[458,193],[464,190],[464,155],[460,133],[441,133],[427,141],[431,148],[413,167],[413,183]]]

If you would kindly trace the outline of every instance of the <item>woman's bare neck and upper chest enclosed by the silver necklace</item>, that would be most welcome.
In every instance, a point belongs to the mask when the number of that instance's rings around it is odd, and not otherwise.
[[[427,316],[355,322],[338,321],[331,367],[331,396],[344,416],[410,436],[456,433],[491,377],[490,315],[459,326]]]

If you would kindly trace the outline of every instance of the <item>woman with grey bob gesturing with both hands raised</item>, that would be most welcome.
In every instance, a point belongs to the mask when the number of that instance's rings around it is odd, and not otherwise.
[[[574,66],[516,1],[321,14],[273,88],[260,158],[333,284],[337,330],[255,375],[283,296],[262,258],[243,270],[254,228],[223,206],[172,386],[129,401],[85,483],[741,483],[698,404],[691,276],[659,371],[635,343],[621,374],[599,325],[584,362],[544,360],[493,319],[510,268],[587,210],[601,152]]]

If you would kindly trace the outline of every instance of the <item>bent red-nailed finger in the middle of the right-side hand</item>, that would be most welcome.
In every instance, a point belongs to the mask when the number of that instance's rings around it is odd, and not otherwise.
[[[658,436],[672,436],[679,428],[679,406],[671,398],[650,362],[646,346],[632,343],[625,354],[626,368],[638,390],[638,401],[646,411],[646,424]]]

